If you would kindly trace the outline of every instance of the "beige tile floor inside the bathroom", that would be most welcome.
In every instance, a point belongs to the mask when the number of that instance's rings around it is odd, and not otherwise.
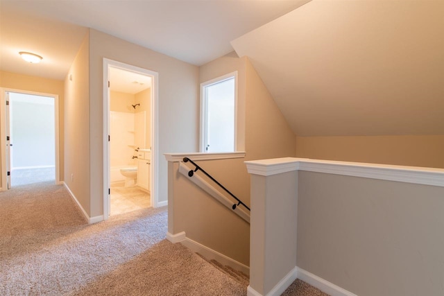
[[[150,194],[137,186],[123,187],[123,184],[112,184],[110,198],[111,216],[151,207]]]

